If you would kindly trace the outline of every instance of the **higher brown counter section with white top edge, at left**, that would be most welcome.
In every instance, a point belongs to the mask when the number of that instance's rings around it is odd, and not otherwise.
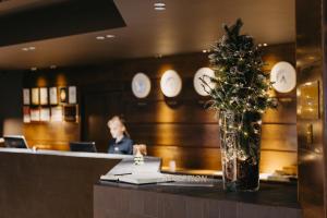
[[[93,185],[124,157],[0,148],[0,217],[90,218]]]

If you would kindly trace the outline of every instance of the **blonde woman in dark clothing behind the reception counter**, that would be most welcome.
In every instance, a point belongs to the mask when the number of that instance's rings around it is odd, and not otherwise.
[[[109,141],[109,154],[132,155],[133,154],[133,141],[126,131],[124,120],[114,116],[108,121],[108,128],[112,140]]]

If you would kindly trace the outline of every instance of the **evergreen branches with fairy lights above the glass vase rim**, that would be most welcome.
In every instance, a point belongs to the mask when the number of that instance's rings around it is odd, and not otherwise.
[[[225,35],[213,46],[209,55],[215,77],[201,77],[204,89],[211,96],[209,105],[221,111],[237,113],[259,112],[277,106],[269,97],[271,83],[263,71],[261,47],[249,35],[241,35],[243,23],[239,19],[232,26],[223,25]]]

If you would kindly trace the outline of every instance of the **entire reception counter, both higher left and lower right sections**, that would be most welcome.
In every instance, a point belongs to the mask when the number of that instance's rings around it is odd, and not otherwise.
[[[296,186],[258,193],[215,186],[129,185],[99,178],[131,156],[0,148],[1,218],[300,218]]]

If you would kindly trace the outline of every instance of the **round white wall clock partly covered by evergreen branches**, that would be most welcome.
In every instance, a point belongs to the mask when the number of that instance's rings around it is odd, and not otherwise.
[[[196,90],[196,93],[201,96],[208,96],[209,94],[207,94],[204,89],[204,87],[202,86],[202,81],[199,80],[201,77],[204,78],[208,85],[210,86],[210,88],[215,88],[215,83],[211,83],[210,82],[210,78],[205,76],[204,75],[207,75],[207,76],[210,76],[210,77],[214,77],[215,76],[215,72],[209,69],[209,68],[201,68],[196,71],[195,75],[194,75],[194,78],[193,78],[193,85],[194,85],[194,88]]]

